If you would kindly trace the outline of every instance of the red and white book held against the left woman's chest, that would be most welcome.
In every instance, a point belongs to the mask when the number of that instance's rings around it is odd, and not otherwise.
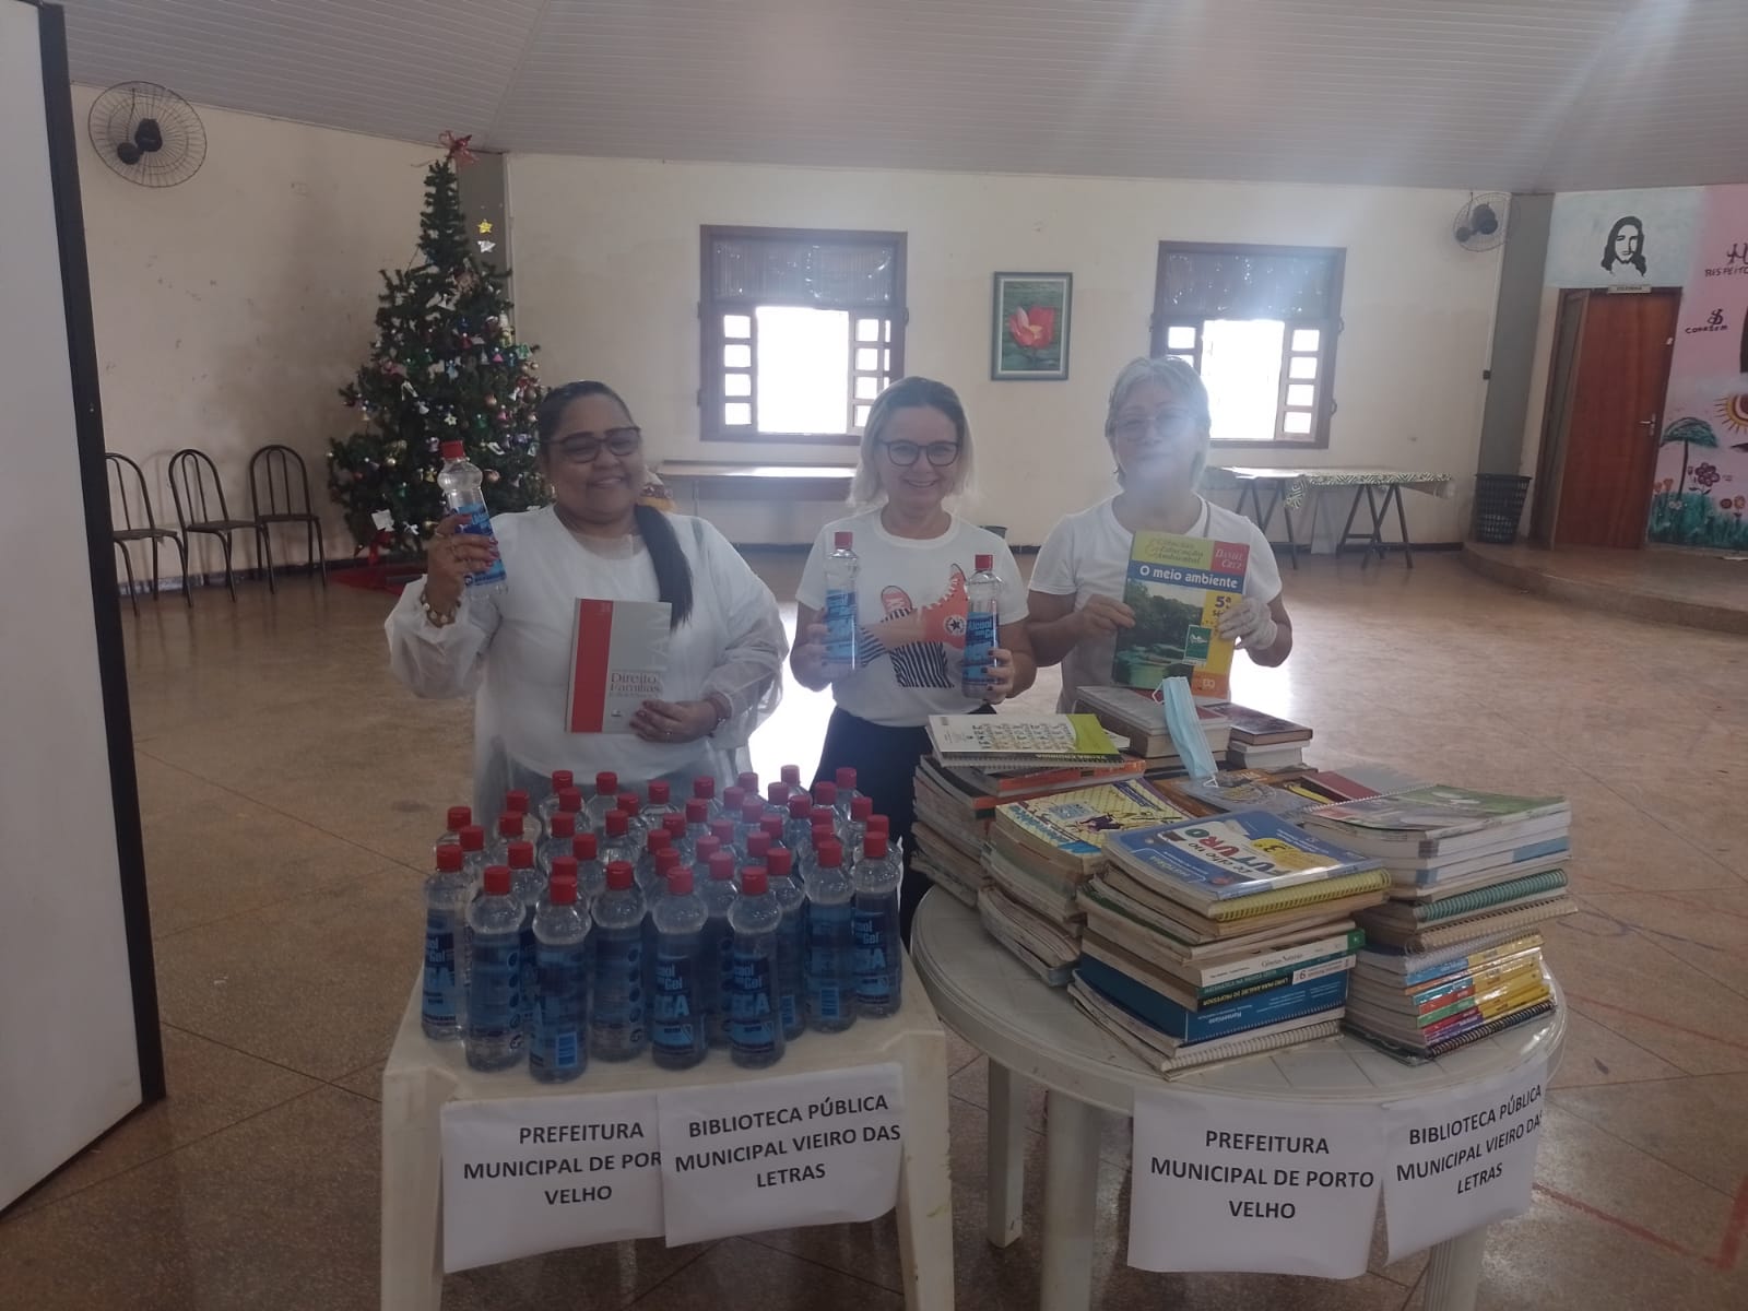
[[[565,697],[572,732],[631,732],[631,717],[661,697],[666,673],[666,601],[577,601]]]

